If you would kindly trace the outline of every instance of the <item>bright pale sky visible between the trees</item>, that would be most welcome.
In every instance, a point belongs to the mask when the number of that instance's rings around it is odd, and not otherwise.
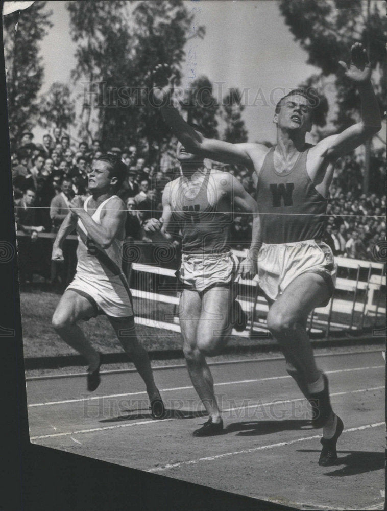
[[[283,95],[279,89],[294,88],[316,72],[305,64],[307,54],[293,41],[277,1],[187,0],[185,4],[195,14],[195,25],[206,27],[206,35],[186,44],[183,85],[206,75],[212,82],[224,82],[216,97],[219,92],[224,96],[228,87],[247,89],[245,98],[252,106],[246,107],[243,118],[249,140],[274,142],[273,102]],[[41,42],[45,64],[42,92],[54,81],[69,83],[75,66],[76,45],[69,35],[65,2],[47,2],[47,9],[53,11],[54,26]],[[74,95],[81,91],[82,86]],[[40,128],[34,133],[35,140],[41,138]]]

